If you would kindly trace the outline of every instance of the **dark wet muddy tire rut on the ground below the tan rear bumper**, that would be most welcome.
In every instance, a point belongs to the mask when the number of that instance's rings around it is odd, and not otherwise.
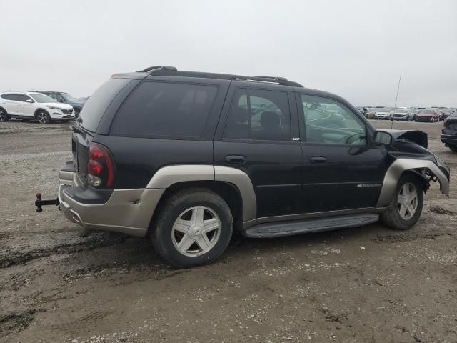
[[[110,245],[124,242],[128,237],[106,237],[103,233],[92,234],[89,239],[77,242],[64,242],[51,247],[35,248],[29,251],[24,249],[13,251],[12,249],[2,248],[0,255],[0,268],[11,267],[16,264],[24,264],[32,259],[48,257],[55,254],[71,254],[74,252],[89,251],[95,248],[108,247]]]

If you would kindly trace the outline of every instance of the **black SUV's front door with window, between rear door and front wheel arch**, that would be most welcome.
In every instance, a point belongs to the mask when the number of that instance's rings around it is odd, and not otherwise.
[[[326,212],[375,207],[387,151],[373,129],[337,99],[297,94],[303,147],[303,207]]]

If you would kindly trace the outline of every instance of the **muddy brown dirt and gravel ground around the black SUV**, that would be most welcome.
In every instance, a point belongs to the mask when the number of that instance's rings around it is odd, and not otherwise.
[[[441,127],[394,124],[426,131],[454,174]],[[175,270],[149,239],[35,212],[70,149],[68,124],[0,123],[0,342],[457,342],[455,177],[408,232],[236,236],[219,262]]]

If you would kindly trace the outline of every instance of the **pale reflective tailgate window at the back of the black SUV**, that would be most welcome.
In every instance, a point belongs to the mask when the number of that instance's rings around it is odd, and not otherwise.
[[[96,89],[79,114],[79,124],[84,129],[95,132],[111,101],[130,81],[130,79],[109,79]]]

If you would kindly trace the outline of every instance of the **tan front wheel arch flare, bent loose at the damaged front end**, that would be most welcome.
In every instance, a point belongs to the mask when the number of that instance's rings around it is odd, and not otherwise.
[[[384,207],[391,201],[398,180],[405,173],[414,174],[421,179],[421,182],[425,184],[424,190],[428,189],[430,181],[438,180],[441,192],[446,195],[449,194],[449,180],[433,161],[423,159],[396,159],[386,172],[376,207]]]

